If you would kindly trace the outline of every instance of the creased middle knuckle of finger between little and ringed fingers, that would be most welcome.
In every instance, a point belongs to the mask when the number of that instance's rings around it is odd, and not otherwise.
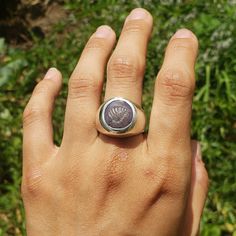
[[[93,75],[80,74],[69,80],[69,97],[71,99],[88,98],[91,93],[97,93],[100,87]]]

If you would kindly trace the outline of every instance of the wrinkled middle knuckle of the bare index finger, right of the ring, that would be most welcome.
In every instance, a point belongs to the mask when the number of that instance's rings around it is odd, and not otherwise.
[[[159,93],[167,102],[176,102],[190,98],[194,91],[194,78],[190,73],[181,70],[160,71],[157,79]]]

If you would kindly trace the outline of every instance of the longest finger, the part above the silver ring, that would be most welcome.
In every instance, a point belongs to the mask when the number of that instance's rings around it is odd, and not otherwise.
[[[121,96],[141,104],[142,81],[152,16],[134,9],[127,17],[118,44],[109,60],[105,100]]]

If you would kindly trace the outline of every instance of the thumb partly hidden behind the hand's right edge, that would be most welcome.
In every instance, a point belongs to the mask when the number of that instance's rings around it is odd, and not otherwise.
[[[208,174],[202,162],[201,147],[193,142],[196,150],[192,168],[192,181],[186,221],[186,234],[196,236],[199,232],[201,216],[208,192]]]

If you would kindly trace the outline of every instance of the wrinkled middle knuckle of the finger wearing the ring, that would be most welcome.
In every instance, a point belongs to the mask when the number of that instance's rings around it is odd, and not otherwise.
[[[143,60],[138,57],[114,56],[108,63],[108,76],[112,83],[136,83],[144,71]],[[128,80],[127,80],[128,78]],[[119,80],[117,80],[119,79]],[[122,81],[120,79],[123,79]]]

